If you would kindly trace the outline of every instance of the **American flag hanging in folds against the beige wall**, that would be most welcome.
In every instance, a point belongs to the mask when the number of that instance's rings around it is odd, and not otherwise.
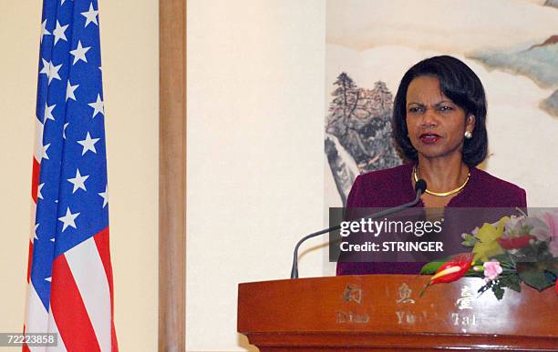
[[[97,0],[44,0],[26,333],[117,351]]]

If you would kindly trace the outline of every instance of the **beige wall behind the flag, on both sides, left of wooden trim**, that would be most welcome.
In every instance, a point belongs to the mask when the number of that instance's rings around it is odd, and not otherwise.
[[[157,349],[159,15],[156,0],[99,1],[116,327]],[[30,224],[41,1],[0,2],[0,332],[20,331]],[[7,350],[13,350],[9,348]]]

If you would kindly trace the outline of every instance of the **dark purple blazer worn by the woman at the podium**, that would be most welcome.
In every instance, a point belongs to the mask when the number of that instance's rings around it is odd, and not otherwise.
[[[391,207],[415,198],[414,164],[404,164],[356,177],[346,207]],[[417,206],[424,206],[422,201]],[[476,168],[449,207],[527,207],[525,190]],[[424,263],[337,263],[337,275],[418,274]]]

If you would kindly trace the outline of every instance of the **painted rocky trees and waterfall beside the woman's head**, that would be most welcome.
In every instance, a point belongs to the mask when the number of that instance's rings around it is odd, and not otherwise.
[[[360,88],[345,72],[337,76],[325,124],[325,154],[343,205],[356,176],[398,166],[393,144],[393,95],[382,81]]]

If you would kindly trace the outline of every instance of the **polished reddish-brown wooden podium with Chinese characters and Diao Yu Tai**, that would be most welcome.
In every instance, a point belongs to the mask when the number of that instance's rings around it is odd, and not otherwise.
[[[316,277],[240,284],[238,331],[261,351],[558,351],[558,295],[522,286],[501,301],[480,278]]]

